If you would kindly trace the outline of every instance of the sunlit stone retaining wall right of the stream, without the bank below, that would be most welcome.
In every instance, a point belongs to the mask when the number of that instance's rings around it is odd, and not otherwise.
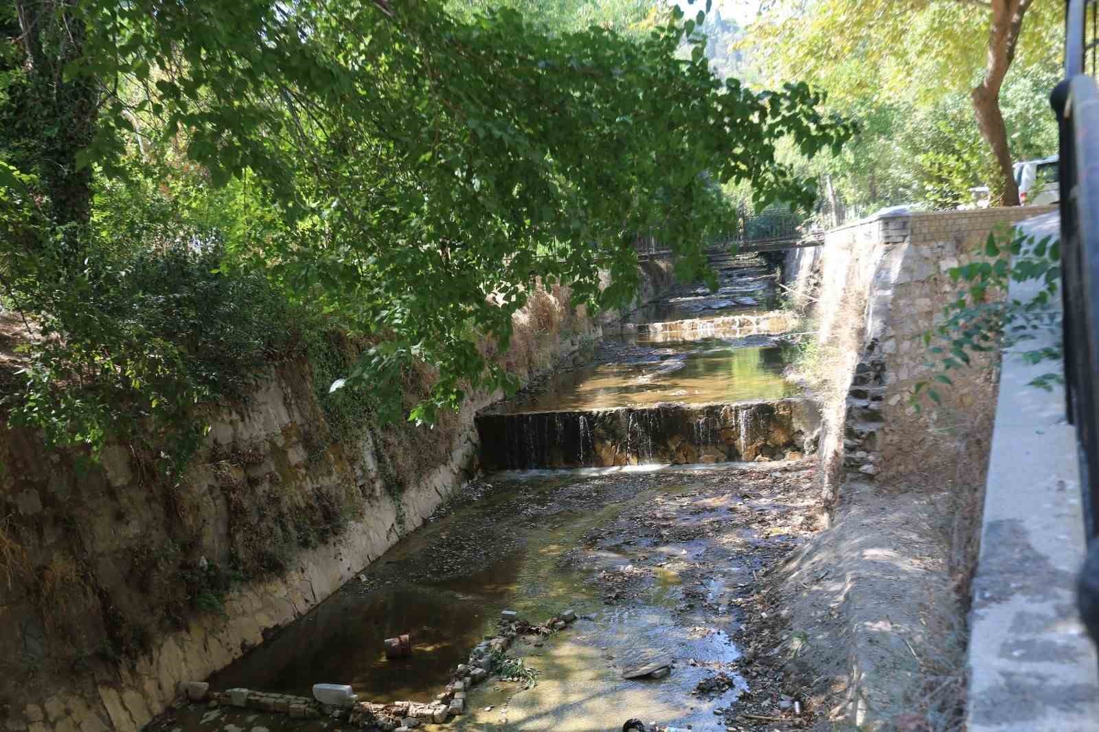
[[[918,411],[910,403],[915,384],[937,373],[928,366],[922,336],[957,295],[947,271],[959,257],[977,249],[997,225],[1050,210],[882,215],[830,231],[819,252],[793,259],[787,279],[795,299],[813,313],[819,342],[856,346],[831,364],[850,375],[851,386],[842,403],[824,404],[820,454],[826,502],[840,499],[848,473],[889,481],[942,472],[967,425],[981,418],[978,412],[987,418],[995,386],[981,364],[954,371],[955,385],[939,390],[942,403],[935,409]]]

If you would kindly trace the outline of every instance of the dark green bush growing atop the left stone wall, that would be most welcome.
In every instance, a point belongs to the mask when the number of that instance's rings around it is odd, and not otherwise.
[[[222,263],[215,241],[104,257],[84,292],[95,322],[63,328],[42,313],[22,388],[3,400],[11,422],[93,455],[111,439],[148,443],[178,479],[207,430],[195,408],[244,399],[301,347],[301,311],[262,274]]]

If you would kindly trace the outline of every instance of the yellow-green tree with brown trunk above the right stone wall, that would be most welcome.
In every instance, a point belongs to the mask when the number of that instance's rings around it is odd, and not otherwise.
[[[1018,204],[1001,92],[1009,69],[1059,60],[1061,13],[1053,0],[778,0],[753,27],[752,47],[770,73],[798,69],[841,107],[926,109],[965,92],[997,166],[988,182]]]

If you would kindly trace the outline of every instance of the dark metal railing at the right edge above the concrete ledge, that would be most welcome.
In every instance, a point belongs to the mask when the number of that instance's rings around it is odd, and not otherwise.
[[[1066,0],[1066,11],[1065,80],[1051,103],[1061,146],[1065,392],[1091,541],[1099,536],[1099,4]]]

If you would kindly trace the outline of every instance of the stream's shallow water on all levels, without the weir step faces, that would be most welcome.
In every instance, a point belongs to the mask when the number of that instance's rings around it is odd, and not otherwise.
[[[767,309],[774,289],[762,274],[724,269],[719,291],[681,288],[631,319]],[[654,343],[634,336],[615,341],[610,351],[602,363],[559,374],[541,393],[511,400],[500,411],[735,403],[798,392],[782,378],[781,348],[766,339]],[[469,650],[495,634],[501,610],[542,622],[570,608],[580,618],[567,631],[517,643],[512,652],[541,672],[535,689],[517,694],[513,684],[484,684],[470,695],[467,713],[453,721],[456,729],[589,732],[621,729],[635,716],[713,729],[714,708],[728,706],[743,685],[709,700],[690,692],[715,665],[740,655],[728,635],[735,625],[729,588],[751,572],[752,559],[742,558],[729,542],[755,541],[754,530],[740,529],[720,541],[701,532],[691,534],[697,537],[673,533],[644,539],[625,517],[632,512],[636,518],[639,507],[654,500],[693,496],[692,486],[703,481],[724,486],[719,473],[724,469],[648,465],[489,476],[365,569],[362,581],[353,579],[209,680],[218,690],[242,686],[302,696],[310,696],[317,683],[351,684],[362,700],[429,701]],[[735,475],[763,469],[743,465]],[[722,490],[712,504],[701,500],[689,518],[679,517],[678,528],[728,520],[740,499]],[[697,574],[703,557],[713,567],[704,581]],[[607,601],[597,578],[629,572],[635,563],[644,567],[637,594]],[[697,605],[699,588],[712,605],[706,611]],[[685,602],[688,597],[695,598],[696,609],[684,610],[691,607]],[[401,633],[411,635],[412,656],[387,661],[384,640]],[[675,661],[670,676],[622,678],[624,668],[657,658]],[[169,725],[173,732],[341,727],[331,720],[296,721],[232,709],[204,712],[193,706],[166,716],[160,727]]]

